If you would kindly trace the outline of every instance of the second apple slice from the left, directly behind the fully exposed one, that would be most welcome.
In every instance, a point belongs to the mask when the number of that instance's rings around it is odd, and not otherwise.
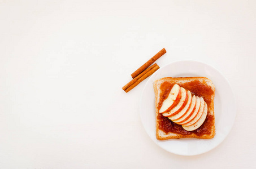
[[[163,113],[163,116],[169,117],[171,115],[175,115],[179,113],[180,110],[184,108],[187,101],[188,101],[188,93],[186,92],[185,88],[181,87],[181,98],[179,103],[173,106],[173,108],[169,112]]]

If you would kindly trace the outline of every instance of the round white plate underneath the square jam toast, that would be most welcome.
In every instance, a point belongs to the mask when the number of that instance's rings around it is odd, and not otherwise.
[[[215,137],[208,140],[192,138],[157,140],[153,82],[163,77],[195,76],[207,77],[215,85]],[[161,148],[179,155],[197,155],[215,148],[228,135],[236,117],[235,97],[227,79],[210,65],[198,61],[176,61],[158,69],[147,81],[140,100],[140,116],[147,134]]]

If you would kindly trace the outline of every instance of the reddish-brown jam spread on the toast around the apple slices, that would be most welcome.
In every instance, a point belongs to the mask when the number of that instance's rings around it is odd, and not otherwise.
[[[163,82],[161,84],[158,108],[162,106],[163,100],[167,98],[174,84],[175,83],[170,83],[170,82]],[[197,80],[197,81],[192,81],[187,83],[181,83],[179,84],[179,86],[185,88],[186,90],[189,90],[191,94],[194,94],[198,97],[202,96],[207,106],[208,107],[210,106],[211,96],[212,94],[214,94],[214,91],[212,91],[211,87],[207,86],[207,84],[204,84]],[[168,132],[173,132],[173,133],[182,134],[182,135],[190,135],[190,134],[196,134],[197,136],[202,136],[205,134],[210,135],[211,127],[212,125],[214,125],[214,115],[209,114],[209,112],[207,112],[205,122],[203,122],[202,126],[200,126],[199,128],[197,128],[197,130],[194,130],[194,131],[184,130],[184,128],[181,125],[172,122],[168,117],[164,117],[160,113],[158,114],[157,118],[159,120],[159,129],[166,132],[166,134]]]

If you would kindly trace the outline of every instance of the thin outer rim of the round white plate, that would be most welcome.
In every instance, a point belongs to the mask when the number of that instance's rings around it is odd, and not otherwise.
[[[220,72],[218,69],[216,69],[214,66],[212,66],[212,65],[210,65],[210,64],[204,63],[204,62],[202,62],[202,61],[197,61],[197,60],[177,60],[177,61],[172,61],[172,62],[170,62],[170,63],[167,63],[166,65],[162,66],[162,68],[158,69],[155,73],[159,72],[160,70],[166,68],[167,66],[169,66],[169,65],[171,65],[171,64],[177,64],[177,63],[182,63],[182,62],[193,62],[193,63],[199,63],[199,64],[202,64],[202,65],[209,66],[211,69],[214,69],[216,72],[218,72],[220,75],[222,75],[222,77],[225,79],[225,82],[227,82],[228,86],[230,87],[231,94],[232,94],[231,97],[232,97],[232,99],[233,99],[233,102],[235,103],[235,106],[234,106],[234,110],[235,110],[235,111],[234,111],[234,117],[233,117],[234,120],[231,122],[230,128],[229,128],[229,130],[227,131],[227,134],[219,141],[219,143],[216,144],[216,145],[214,145],[214,146],[212,146],[212,148],[210,148],[209,150],[206,150],[205,152],[201,152],[201,153],[197,153],[197,154],[184,154],[184,153],[171,152],[171,151],[169,151],[169,150],[167,150],[167,149],[164,149],[162,146],[160,146],[160,145],[157,143],[157,140],[154,140],[154,139],[151,138],[151,136],[150,136],[150,134],[149,134],[149,131],[146,130],[144,121],[142,121],[142,113],[141,113],[141,111],[142,111],[142,110],[141,110],[141,109],[142,109],[142,108],[141,108],[142,104],[141,104],[141,102],[142,102],[143,94],[144,94],[144,92],[145,92],[145,90],[146,90],[146,86],[148,85],[148,83],[150,83],[151,79],[153,78],[153,75],[151,75],[151,77],[150,77],[149,79],[147,79],[147,82],[146,82],[146,84],[145,84],[145,86],[144,86],[144,88],[143,88],[143,90],[142,90],[142,92],[141,92],[141,96],[140,96],[140,109],[139,109],[139,110],[140,110],[140,118],[141,118],[142,126],[144,127],[144,130],[146,131],[147,135],[150,137],[150,139],[151,139],[152,141],[154,141],[155,144],[157,144],[160,148],[166,150],[167,152],[170,152],[170,153],[173,153],[173,154],[184,155],[184,156],[193,156],[193,155],[199,155],[199,154],[203,154],[203,153],[209,152],[210,150],[212,150],[212,149],[216,148],[218,145],[220,145],[220,144],[225,140],[225,138],[227,138],[227,136],[229,135],[229,133],[230,133],[230,131],[231,131],[231,129],[233,128],[233,125],[234,125],[234,123],[235,123],[235,119],[236,119],[236,115],[237,115],[237,105],[236,105],[235,92],[233,91],[233,88],[232,88],[230,82],[229,82],[228,79],[223,75],[222,72]],[[155,73],[154,73],[154,74],[155,74]],[[193,139],[193,138],[192,138],[192,139]],[[159,140],[159,141],[160,141],[160,140]],[[163,140],[163,141],[166,141],[166,140]]]

